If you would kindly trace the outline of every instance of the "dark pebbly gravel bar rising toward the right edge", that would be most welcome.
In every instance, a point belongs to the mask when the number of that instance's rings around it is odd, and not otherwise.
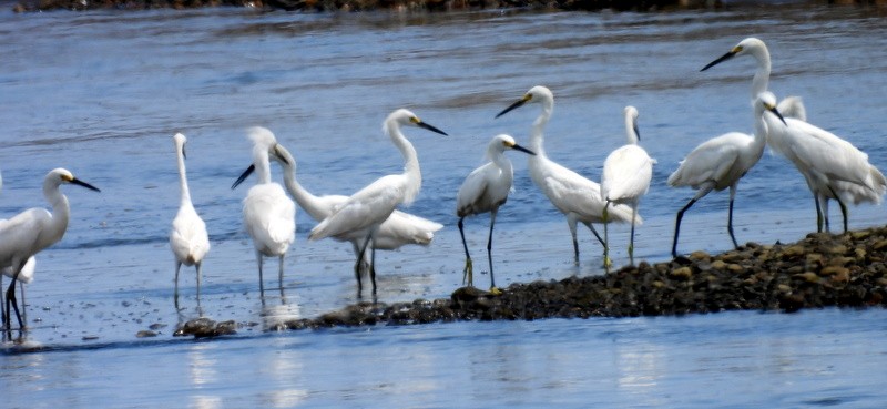
[[[874,306],[887,307],[887,227],[814,233],[793,244],[748,243],[718,255],[695,252],[601,276],[512,284],[501,295],[463,287],[450,298],[360,303],[267,329]],[[212,326],[198,333],[231,334]]]

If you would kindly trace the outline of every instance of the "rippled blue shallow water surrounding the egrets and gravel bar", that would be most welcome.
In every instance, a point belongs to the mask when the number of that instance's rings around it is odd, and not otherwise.
[[[887,361],[883,310],[796,315],[731,313],[683,318],[463,323],[427,327],[264,334],[281,318],[314,317],[356,300],[350,246],[298,237],[281,292],[258,295],[241,225],[249,164],[244,129],[261,124],[298,160],[315,193],[347,194],[400,170],[381,120],[407,106],[450,136],[407,130],[424,184],[409,212],[443,223],[428,248],[377,256],[380,301],[447,297],[463,265],[455,192],[497,133],[526,143],[538,106],[493,120],[530,86],[555,94],[548,155],[598,180],[624,141],[622,108],[641,112],[642,144],[657,159],[641,204],[636,256],[669,257],[674,214],[692,196],[665,186],[691,149],[751,131],[754,63],[699,69],[742,38],[764,39],[771,90],[802,95],[810,122],[887,163],[887,22],[869,9],[746,7],[721,12],[298,14],[208,9],[156,12],[0,13],[0,215],[43,206],[42,177],[67,167],[102,193],[65,187],[72,219],[38,257],[28,288],[27,345],[4,354],[0,396],[10,407],[104,406],[540,406],[876,407]],[[865,40],[861,40],[865,39]],[[198,315],[194,274],[172,300],[167,234],[179,203],[172,134],[188,136],[192,197],[213,248],[202,311],[253,323],[221,342],[173,338]],[[601,274],[600,246],[582,231],[572,260],[563,217],[510,154],[516,186],[497,218],[497,282]],[[275,172],[276,168],[275,168]],[[279,173],[276,173],[279,174]],[[728,249],[726,194],[684,218],[680,249]],[[836,206],[834,206],[836,207]],[[852,227],[884,209],[850,211]],[[741,242],[788,242],[815,226],[803,178],[765,154],[740,184]],[[839,214],[833,209],[833,221]],[[837,225],[838,223],[836,223]],[[467,221],[486,270],[487,217]],[[611,232],[628,263],[628,228]],[[275,260],[265,266],[274,272]],[[479,275],[486,285],[488,276]],[[6,280],[8,283],[8,279]],[[159,324],[160,335],[136,338]],[[14,352],[14,347],[6,351]],[[389,370],[379,371],[380,365]],[[37,403],[34,403],[37,402]],[[50,403],[53,402],[53,403]]]

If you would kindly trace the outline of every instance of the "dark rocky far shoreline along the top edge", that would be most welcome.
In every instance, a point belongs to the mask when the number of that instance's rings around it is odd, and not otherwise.
[[[635,10],[718,7],[721,0],[22,0],[17,12],[49,10],[151,10],[241,7],[258,10],[314,12],[409,10],[450,11],[499,8],[552,10]]]

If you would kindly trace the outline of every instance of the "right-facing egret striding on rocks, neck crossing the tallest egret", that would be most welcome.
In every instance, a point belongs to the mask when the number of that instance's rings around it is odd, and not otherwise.
[[[755,103],[755,133],[748,136],[740,132],[730,132],[703,142],[681,161],[671,176],[672,187],[690,186],[696,195],[677,212],[674,224],[674,242],[672,256],[677,257],[677,236],[681,232],[681,219],[690,206],[710,192],[721,192],[730,187],[730,208],[727,211],[727,232],[733,246],[738,247],[733,234],[733,201],[736,197],[736,185],[740,180],[761,160],[767,140],[767,125],[764,123],[764,111],[778,114],[776,100],[769,92],[762,93]],[[782,115],[778,116],[782,119]]]

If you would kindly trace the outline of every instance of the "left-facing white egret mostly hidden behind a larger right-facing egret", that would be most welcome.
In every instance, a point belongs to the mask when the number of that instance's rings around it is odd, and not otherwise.
[[[277,149],[268,152],[271,157],[276,160],[284,167],[284,185],[289,195],[296,200],[296,203],[308,213],[317,222],[329,217],[330,214],[345,202],[348,196],[345,195],[323,195],[316,196],[306,190],[298,180],[296,180],[296,160],[293,154],[283,145],[277,144]],[[241,175],[233,187],[236,187],[243,180],[245,180],[255,166],[251,165]],[[431,222],[409,213],[394,211],[381,225],[376,234],[376,248],[383,250],[398,249],[408,244],[416,244],[427,246],[435,237],[435,232],[443,228],[440,223]],[[333,238],[340,242],[350,242],[354,247],[355,256],[360,255],[360,243],[366,238],[367,232],[349,232]],[[365,254],[361,265],[366,269],[369,267],[368,254]],[[355,272],[358,273],[358,272]],[[357,277],[358,285],[360,277]]]

